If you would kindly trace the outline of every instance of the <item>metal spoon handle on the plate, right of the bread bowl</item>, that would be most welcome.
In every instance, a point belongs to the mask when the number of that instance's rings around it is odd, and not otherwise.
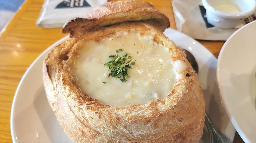
[[[206,111],[204,116],[205,116],[204,123],[208,129],[211,143],[232,143],[225,135],[223,135],[218,130],[218,128],[214,125],[212,119],[209,117]]]

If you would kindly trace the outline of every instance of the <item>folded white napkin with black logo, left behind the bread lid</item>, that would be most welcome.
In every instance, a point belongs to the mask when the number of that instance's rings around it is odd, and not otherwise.
[[[74,17],[83,18],[93,8],[107,0],[45,0],[36,25],[44,28],[57,28]]]

